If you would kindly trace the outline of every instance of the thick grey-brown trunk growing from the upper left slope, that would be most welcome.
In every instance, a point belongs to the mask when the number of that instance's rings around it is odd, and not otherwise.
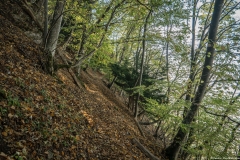
[[[65,0],[57,0],[54,14],[53,14],[53,22],[50,27],[49,35],[47,37],[46,42],[46,51],[49,54],[49,71],[51,74],[54,73],[53,63],[54,63],[54,56],[57,48],[57,41],[61,29],[62,23],[62,13],[65,5]]]

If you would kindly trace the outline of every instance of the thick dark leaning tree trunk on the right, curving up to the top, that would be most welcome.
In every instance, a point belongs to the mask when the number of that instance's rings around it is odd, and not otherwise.
[[[186,117],[184,117],[182,124],[183,125],[189,125],[193,122],[194,117],[199,109],[199,105],[202,102],[209,76],[211,73],[211,69],[213,66],[213,58],[214,58],[214,52],[215,48],[214,45],[216,43],[216,35],[217,35],[217,29],[219,24],[219,18],[222,12],[222,6],[223,6],[224,0],[216,0],[214,5],[214,11],[212,15],[211,25],[209,29],[209,35],[208,35],[208,46],[205,56],[205,62],[203,66],[203,71],[201,75],[201,80],[198,86],[198,90],[195,94],[194,100],[191,103],[190,110],[186,114]],[[178,130],[178,133],[174,137],[174,140],[172,144],[165,150],[166,156],[170,160],[176,160],[179,155],[179,151],[182,147],[182,143],[185,141],[186,136],[188,134],[188,131],[184,130],[184,128],[180,127]]]

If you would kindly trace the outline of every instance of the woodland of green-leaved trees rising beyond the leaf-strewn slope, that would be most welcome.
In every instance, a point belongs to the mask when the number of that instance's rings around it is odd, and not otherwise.
[[[79,87],[84,71],[104,74],[162,159],[240,159],[239,0],[9,3],[30,19],[44,72],[68,70]]]

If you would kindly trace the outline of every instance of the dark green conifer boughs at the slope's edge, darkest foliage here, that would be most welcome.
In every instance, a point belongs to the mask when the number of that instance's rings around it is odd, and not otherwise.
[[[155,77],[150,76],[150,72],[146,68],[142,77],[142,85],[138,86],[139,73],[134,67],[130,66],[129,61],[125,60],[122,65],[111,63],[110,68],[112,74],[117,77],[115,83],[131,95],[139,93],[144,99],[152,98],[158,103],[166,103],[166,95],[163,93],[163,88],[161,87],[165,79],[157,80]]]

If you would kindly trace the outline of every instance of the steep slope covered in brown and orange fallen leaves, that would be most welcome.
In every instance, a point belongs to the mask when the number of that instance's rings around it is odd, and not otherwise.
[[[0,160],[148,159],[133,138],[161,158],[104,74],[82,71],[80,88],[67,69],[50,76],[19,25],[1,14],[0,24]]]

